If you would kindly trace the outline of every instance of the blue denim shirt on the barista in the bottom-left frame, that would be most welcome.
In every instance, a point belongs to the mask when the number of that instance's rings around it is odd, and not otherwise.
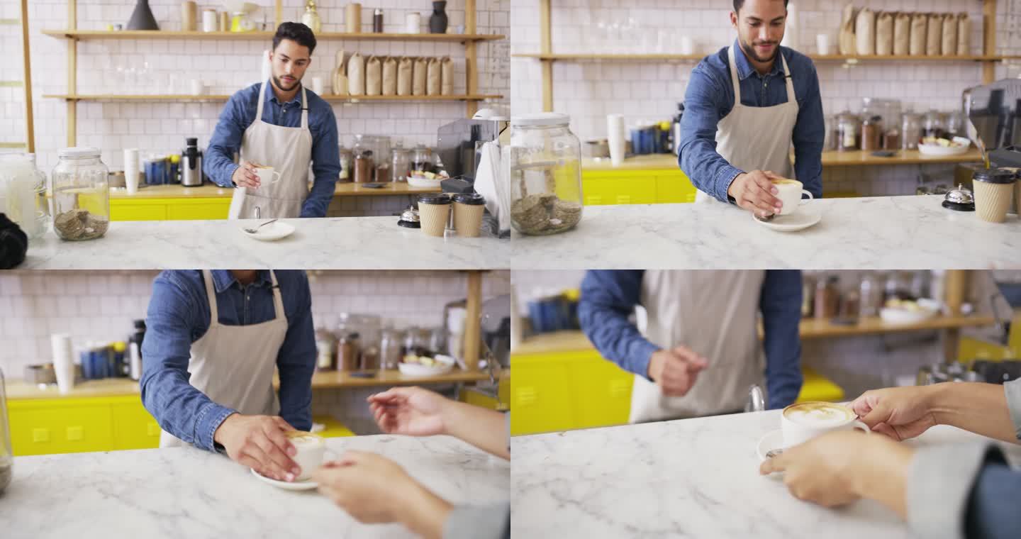
[[[277,354],[280,415],[298,430],[312,426],[311,378],[315,370],[308,278],[300,271],[276,272],[287,335]],[[242,286],[227,270],[212,272],[220,323],[249,326],[274,316],[273,281],[269,271]],[[250,298],[246,300],[246,296]],[[162,272],[152,284],[142,342],[142,404],[167,433],[185,443],[214,450],[212,434],[236,410],[211,401],[189,384],[191,345],[209,329],[209,301],[202,272]],[[218,358],[225,360],[224,358]],[[244,377],[243,358],[238,376]],[[230,359],[228,359],[230,360]]]

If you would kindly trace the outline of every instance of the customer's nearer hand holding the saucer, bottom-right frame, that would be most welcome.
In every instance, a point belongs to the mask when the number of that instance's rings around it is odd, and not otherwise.
[[[905,517],[908,469],[914,453],[911,447],[882,436],[839,431],[766,459],[759,473],[783,472],[787,490],[800,500],[838,507],[869,498]]]

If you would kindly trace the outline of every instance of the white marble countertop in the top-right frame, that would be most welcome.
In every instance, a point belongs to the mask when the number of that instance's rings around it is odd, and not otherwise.
[[[813,201],[822,220],[780,233],[730,204],[589,206],[572,231],[512,235],[512,268],[986,270],[1021,266],[1021,220],[984,223],[942,197]]]

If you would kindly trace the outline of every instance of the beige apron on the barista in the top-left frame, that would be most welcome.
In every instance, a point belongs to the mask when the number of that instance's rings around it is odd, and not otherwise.
[[[262,183],[258,189],[234,190],[229,218],[254,218],[255,207],[261,218],[301,216],[301,205],[308,197],[308,165],[312,158],[312,133],[308,130],[308,99],[301,87],[301,127],[284,128],[262,121],[265,87],[258,93],[255,121],[241,140],[241,159],[273,166],[280,173],[276,183]]]

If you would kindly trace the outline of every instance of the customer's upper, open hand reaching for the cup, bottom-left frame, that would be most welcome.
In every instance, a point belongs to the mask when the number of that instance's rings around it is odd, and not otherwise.
[[[407,436],[446,434],[451,404],[442,395],[419,387],[393,388],[369,397],[380,429]]]

